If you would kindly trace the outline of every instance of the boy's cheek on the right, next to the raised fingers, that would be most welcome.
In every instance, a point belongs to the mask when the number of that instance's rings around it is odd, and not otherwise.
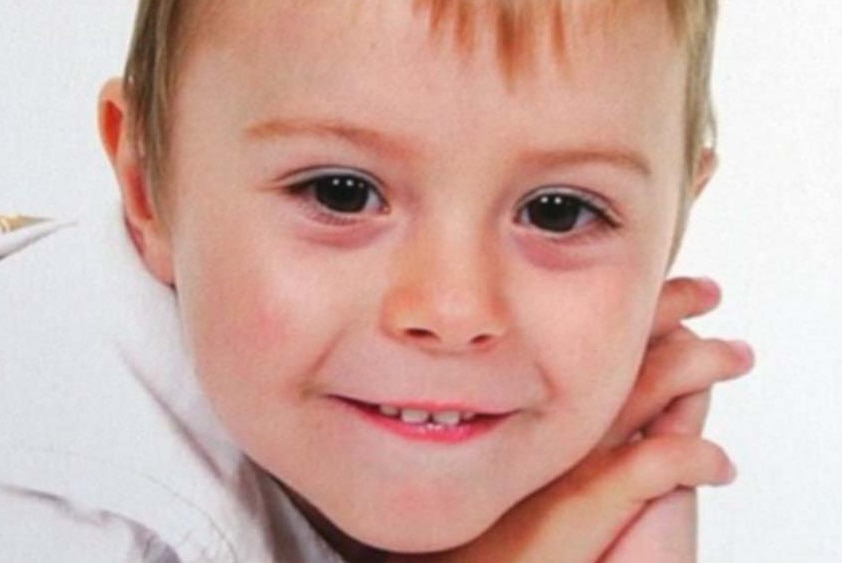
[[[564,277],[532,304],[527,340],[550,389],[550,415],[595,440],[634,382],[660,281],[619,266]]]

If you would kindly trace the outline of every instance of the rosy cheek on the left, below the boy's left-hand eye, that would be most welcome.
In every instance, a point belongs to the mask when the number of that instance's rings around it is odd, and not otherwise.
[[[291,409],[318,391],[319,366],[361,302],[345,281],[360,272],[255,224],[184,236],[177,261],[197,371],[218,407],[246,415],[249,400]]]

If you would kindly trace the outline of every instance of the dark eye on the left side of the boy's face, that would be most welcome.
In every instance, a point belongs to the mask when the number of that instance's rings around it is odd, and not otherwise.
[[[294,180],[287,188],[292,195],[303,197],[321,213],[353,216],[383,213],[386,202],[372,180],[360,173],[322,172]]]

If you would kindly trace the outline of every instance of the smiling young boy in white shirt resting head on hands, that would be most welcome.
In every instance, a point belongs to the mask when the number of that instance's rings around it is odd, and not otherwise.
[[[715,286],[664,285],[714,18],[142,1],[121,220],[3,264],[3,549],[688,560],[683,488],[733,478],[708,391],[751,363],[681,326]]]

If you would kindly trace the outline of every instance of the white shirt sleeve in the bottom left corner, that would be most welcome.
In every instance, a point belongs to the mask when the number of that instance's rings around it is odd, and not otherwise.
[[[0,559],[178,563],[155,534],[118,516],[0,485]]]

